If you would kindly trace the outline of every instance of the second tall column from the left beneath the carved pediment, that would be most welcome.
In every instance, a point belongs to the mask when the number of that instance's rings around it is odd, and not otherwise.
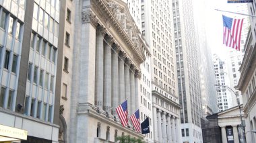
[[[112,99],[112,80],[111,80],[111,70],[112,70],[112,63],[111,63],[111,51],[112,51],[112,44],[114,40],[110,36],[106,36],[106,44],[104,47],[104,87],[103,87],[103,101],[104,101],[104,109],[108,111],[111,105]]]

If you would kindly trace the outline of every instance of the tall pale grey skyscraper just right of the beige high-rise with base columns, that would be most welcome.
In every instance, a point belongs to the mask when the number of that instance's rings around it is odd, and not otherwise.
[[[182,142],[202,142],[198,36],[193,1],[172,0]]]

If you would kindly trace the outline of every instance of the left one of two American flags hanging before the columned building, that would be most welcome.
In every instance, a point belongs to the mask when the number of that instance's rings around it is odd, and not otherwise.
[[[127,110],[127,100],[125,100],[121,105],[116,108],[117,115],[121,120],[123,126],[128,125],[128,110]]]

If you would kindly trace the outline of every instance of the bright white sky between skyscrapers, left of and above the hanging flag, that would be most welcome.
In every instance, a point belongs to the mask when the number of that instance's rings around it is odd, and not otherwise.
[[[205,2],[205,28],[207,35],[207,42],[212,50],[212,54],[216,53],[220,56],[220,58],[224,59],[226,56],[226,51],[230,50],[230,48],[224,46],[222,44],[223,38],[223,22],[222,15],[226,15],[228,17],[235,18],[247,18],[245,15],[237,15],[233,13],[226,13],[222,11],[216,11],[214,9],[220,9],[224,11],[236,11],[236,7],[238,5],[245,5],[247,7],[247,3],[227,3],[227,0],[214,0]],[[242,12],[241,12],[242,13]]]

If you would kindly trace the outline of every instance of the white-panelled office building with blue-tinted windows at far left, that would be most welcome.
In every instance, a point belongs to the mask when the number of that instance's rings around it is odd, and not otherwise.
[[[0,2],[0,124],[28,142],[58,142],[59,2]]]

